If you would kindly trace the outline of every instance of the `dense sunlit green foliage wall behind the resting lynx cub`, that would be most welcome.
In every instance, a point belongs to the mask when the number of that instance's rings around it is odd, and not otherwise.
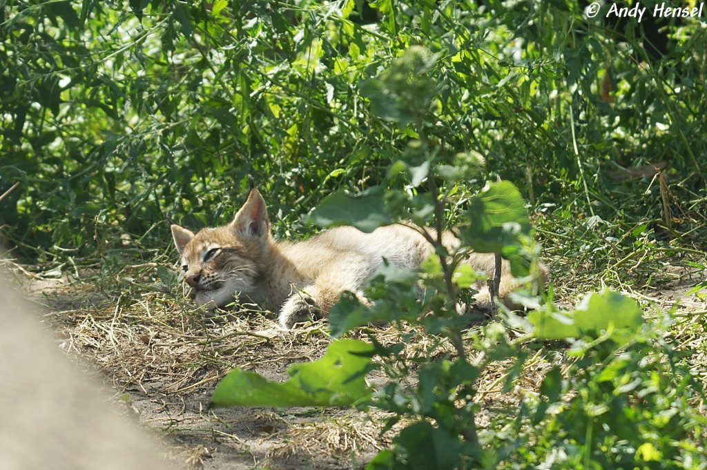
[[[667,20],[655,59],[637,23],[601,17],[562,0],[4,1],[0,192],[20,187],[0,202],[2,233],[24,259],[129,254],[120,233],[144,248],[165,245],[165,218],[224,221],[250,175],[276,231],[296,234],[332,189],[381,182],[416,137],[365,83],[423,45],[436,86],[409,99],[435,97],[423,131],[443,151],[480,153],[486,177],[560,223],[600,216],[625,249],[654,230],[697,240],[703,19]],[[607,177],[658,160],[662,195],[650,177]]]

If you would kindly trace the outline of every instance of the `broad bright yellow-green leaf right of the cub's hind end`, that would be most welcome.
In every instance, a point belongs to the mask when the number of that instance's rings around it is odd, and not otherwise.
[[[536,310],[528,314],[537,339],[568,339],[588,336],[592,339],[607,334],[618,346],[633,339],[643,324],[643,312],[636,300],[612,290],[587,295],[569,312]]]

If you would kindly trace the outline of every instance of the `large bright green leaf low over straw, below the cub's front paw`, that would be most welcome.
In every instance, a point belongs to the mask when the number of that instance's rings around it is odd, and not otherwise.
[[[370,396],[364,374],[373,347],[340,339],[312,363],[292,365],[287,382],[273,382],[236,368],[218,382],[210,408],[229,406],[349,406]]]

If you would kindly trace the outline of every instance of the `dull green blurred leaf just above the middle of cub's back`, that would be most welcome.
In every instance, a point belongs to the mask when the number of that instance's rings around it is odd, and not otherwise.
[[[385,206],[383,189],[377,186],[357,196],[344,192],[327,196],[312,213],[310,220],[321,227],[353,225],[366,233],[395,222]]]

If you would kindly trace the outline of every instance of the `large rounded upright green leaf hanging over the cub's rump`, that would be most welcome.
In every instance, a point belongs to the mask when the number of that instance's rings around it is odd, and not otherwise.
[[[465,245],[476,252],[498,253],[517,245],[521,234],[530,234],[525,201],[513,183],[489,183],[470,200],[468,224],[460,226]]]

